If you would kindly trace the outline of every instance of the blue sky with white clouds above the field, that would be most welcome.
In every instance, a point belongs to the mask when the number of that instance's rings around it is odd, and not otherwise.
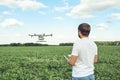
[[[120,0],[0,0],[0,44],[36,43],[29,34],[53,34],[44,44],[74,42],[89,23],[94,41],[120,41]]]

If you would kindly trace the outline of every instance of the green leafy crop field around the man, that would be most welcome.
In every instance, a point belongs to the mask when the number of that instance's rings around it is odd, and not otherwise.
[[[120,46],[99,46],[96,80],[120,80]],[[70,80],[71,46],[0,47],[0,80]]]

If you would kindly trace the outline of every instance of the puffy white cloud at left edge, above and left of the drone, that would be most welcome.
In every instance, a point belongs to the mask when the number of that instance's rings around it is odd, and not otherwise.
[[[23,23],[14,19],[14,18],[9,18],[9,19],[5,19],[2,23],[0,23],[1,27],[18,27],[18,26],[22,26]]]

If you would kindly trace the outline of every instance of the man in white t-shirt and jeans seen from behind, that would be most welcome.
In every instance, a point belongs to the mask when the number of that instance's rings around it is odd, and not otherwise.
[[[97,46],[88,38],[90,25],[82,23],[78,26],[79,41],[73,45],[68,63],[73,66],[72,80],[95,80],[94,63],[97,62]]]

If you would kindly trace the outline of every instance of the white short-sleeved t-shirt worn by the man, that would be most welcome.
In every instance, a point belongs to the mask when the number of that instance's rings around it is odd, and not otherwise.
[[[89,38],[82,38],[73,45],[71,55],[78,56],[73,66],[73,77],[85,77],[94,74],[94,56],[97,55],[97,46]]]

